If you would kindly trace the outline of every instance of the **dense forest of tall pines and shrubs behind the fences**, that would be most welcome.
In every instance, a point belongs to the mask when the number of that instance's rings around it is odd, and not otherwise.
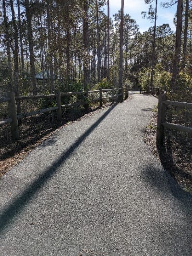
[[[169,24],[156,26],[157,0],[144,1],[149,9],[142,14],[152,26],[140,33],[123,0],[113,18],[110,0],[1,0],[0,95],[123,84],[191,96],[192,3],[162,3],[177,5],[175,33]]]

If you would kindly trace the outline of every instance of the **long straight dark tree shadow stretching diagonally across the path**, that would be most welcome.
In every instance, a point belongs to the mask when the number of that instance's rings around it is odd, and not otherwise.
[[[12,203],[6,207],[0,214],[0,232],[2,232],[12,219],[19,214],[24,206],[30,202],[30,200],[38,193],[38,191],[43,187],[43,185],[54,175],[61,164],[70,157],[74,150],[85,140],[85,138],[91,134],[96,127],[102,122],[108,114],[116,107],[114,104],[110,107],[87,131],[84,132],[68,149],[66,149],[60,158],[53,162],[53,164],[43,172],[36,180],[24,189],[22,194],[15,198]]]

